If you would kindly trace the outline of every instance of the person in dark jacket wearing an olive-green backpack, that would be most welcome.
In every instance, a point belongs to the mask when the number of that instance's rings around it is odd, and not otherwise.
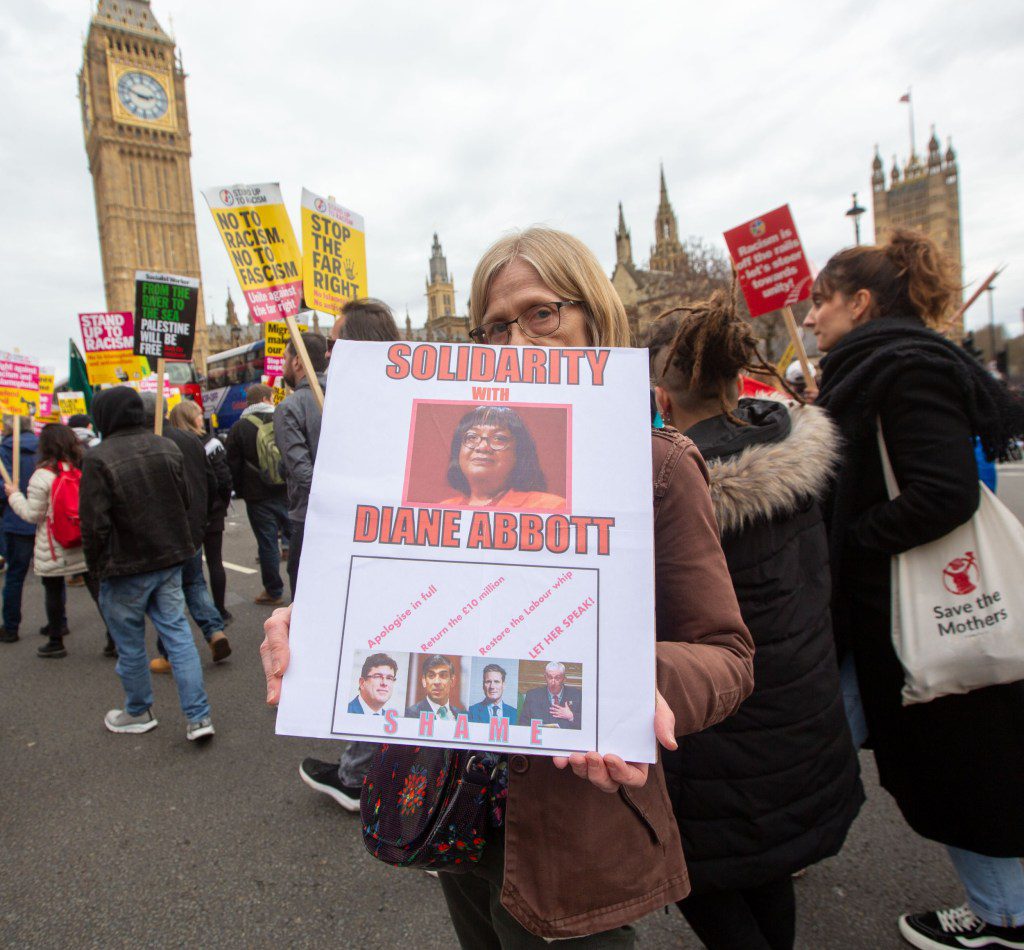
[[[256,535],[259,552],[259,569],[263,590],[256,596],[256,603],[280,607],[284,600],[285,582],[281,578],[281,550],[278,536],[287,547],[291,536],[288,517],[288,489],[284,480],[270,484],[260,471],[258,436],[260,427],[270,426],[273,431],[274,407],[270,401],[273,391],[269,386],[256,383],[246,390],[246,408],[227,433],[227,467],[239,498],[246,503],[249,525]]]

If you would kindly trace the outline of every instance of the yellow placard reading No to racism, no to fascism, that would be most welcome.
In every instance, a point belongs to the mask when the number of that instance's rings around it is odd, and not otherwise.
[[[299,312],[302,258],[276,182],[205,188],[249,312],[258,323]]]

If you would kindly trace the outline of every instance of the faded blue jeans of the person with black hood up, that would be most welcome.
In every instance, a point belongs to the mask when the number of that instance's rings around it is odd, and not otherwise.
[[[131,716],[140,716],[153,705],[153,681],[145,652],[146,616],[167,648],[178,699],[188,722],[210,715],[203,667],[185,618],[180,566],[101,580],[99,609],[117,644],[117,671],[125,690],[125,708]]]

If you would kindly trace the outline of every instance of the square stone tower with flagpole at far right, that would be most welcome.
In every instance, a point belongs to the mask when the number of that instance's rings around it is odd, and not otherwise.
[[[911,155],[901,173],[894,157],[888,189],[882,156],[876,146],[871,162],[871,204],[876,244],[883,243],[894,227],[924,231],[956,262],[963,282],[956,155],[951,142],[942,154],[934,126],[928,141],[927,161],[922,163],[916,155]],[[954,328],[952,335],[959,339],[963,327]]]

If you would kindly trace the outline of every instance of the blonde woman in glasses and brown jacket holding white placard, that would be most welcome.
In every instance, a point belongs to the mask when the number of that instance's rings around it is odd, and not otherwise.
[[[554,304],[559,304],[554,306]],[[512,346],[624,346],[629,323],[597,258],[561,231],[503,238],[473,275],[477,339]],[[538,319],[539,310],[545,311]],[[718,539],[708,472],[689,439],[652,431],[657,689],[654,733],[676,737],[730,716],[753,687],[753,644]],[[267,701],[288,664],[288,610],[260,648]],[[689,891],[659,764],[580,752],[513,755],[492,793],[497,809],[482,860],[441,872],[463,947],[632,947],[630,923]],[[502,784],[507,785],[502,788]],[[507,792],[507,795],[506,795]],[[581,872],[586,887],[581,887]]]

